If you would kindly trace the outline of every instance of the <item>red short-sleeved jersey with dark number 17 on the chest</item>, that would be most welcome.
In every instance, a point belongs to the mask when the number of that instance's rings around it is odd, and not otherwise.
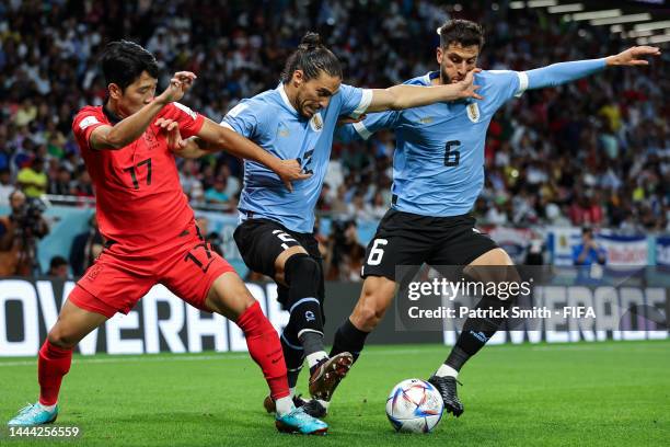
[[[158,118],[178,123],[183,138],[200,131],[205,117],[180,103],[165,105],[145,134],[117,149],[91,148],[91,133],[114,125],[102,106],[85,106],[72,123],[72,131],[95,186],[100,232],[122,247],[151,249],[176,238],[194,219],[182,190],[174,153]]]

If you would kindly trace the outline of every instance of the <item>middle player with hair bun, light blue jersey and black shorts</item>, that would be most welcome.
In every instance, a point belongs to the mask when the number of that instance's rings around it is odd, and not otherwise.
[[[278,300],[290,312],[281,334],[289,386],[293,391],[307,358],[310,394],[321,402],[305,410],[311,414],[325,414],[330,396],[353,362],[349,353],[328,357],[324,351],[323,267],[313,234],[314,207],[338,118],[480,98],[475,89],[472,74],[453,85],[378,90],[350,87],[342,83],[337,57],[322,45],[319,34],[308,33],[287,59],[279,85],[242,101],[223,118],[223,126],[280,158],[297,158],[303,172],[312,174],[289,193],[267,168],[246,161],[239,204],[241,225],[234,232],[245,264],[276,280]],[[265,406],[268,411],[275,409],[269,398]]]

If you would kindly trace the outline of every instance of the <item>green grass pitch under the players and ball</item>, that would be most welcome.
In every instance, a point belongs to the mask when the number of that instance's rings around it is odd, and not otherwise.
[[[462,417],[429,435],[396,434],[384,413],[388,392],[427,377],[446,353],[366,348],[337,390],[323,438],[275,432],[261,406],[266,387],[244,354],[76,356],[57,424],[80,426],[83,436],[69,443],[85,446],[669,445],[670,341],[488,346],[461,374]],[[35,400],[35,363],[0,359],[0,386],[7,421]]]

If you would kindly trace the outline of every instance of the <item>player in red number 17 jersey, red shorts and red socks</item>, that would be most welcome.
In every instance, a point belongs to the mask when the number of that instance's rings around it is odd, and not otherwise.
[[[111,43],[102,68],[108,96],[102,106],[80,110],[72,131],[95,185],[100,231],[107,242],[68,296],[39,349],[38,402],[21,410],[9,425],[54,422],[73,347],[116,312],[128,313],[155,284],[163,284],[197,309],[231,319],[244,332],[277,402],[278,429],[325,433],[326,424],[293,405],[279,337],[261,306],[203,239],[180,185],[175,154],[155,122],[176,124],[186,136],[263,163],[280,182],[304,179],[300,165],[177,103],[195,79],[192,72],[175,73],[168,89],[154,96],[158,65],[137,44]]]

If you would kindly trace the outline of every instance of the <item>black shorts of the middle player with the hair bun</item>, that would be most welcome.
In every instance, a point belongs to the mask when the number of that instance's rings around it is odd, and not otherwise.
[[[270,219],[247,219],[233,233],[235,244],[246,266],[275,279],[275,261],[277,256],[291,247],[300,245],[316,261],[320,271],[317,299],[322,303],[325,297],[323,278],[323,259],[319,251],[319,241],[313,233],[291,231],[281,224]],[[277,300],[286,307],[288,287],[277,284]]]

